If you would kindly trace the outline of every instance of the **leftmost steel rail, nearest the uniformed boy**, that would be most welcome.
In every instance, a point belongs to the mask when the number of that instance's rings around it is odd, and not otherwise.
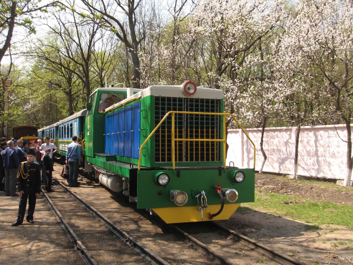
[[[41,188],[44,198],[49,205],[49,208],[52,209],[52,212],[56,219],[58,219],[62,229],[66,232],[68,239],[73,243],[75,248],[79,251],[80,257],[85,264],[98,265],[97,261],[89,253],[88,249],[83,245],[79,240],[78,236],[72,230],[71,226],[66,222],[65,218],[61,215],[58,208],[55,207],[53,201],[49,198],[48,194]]]

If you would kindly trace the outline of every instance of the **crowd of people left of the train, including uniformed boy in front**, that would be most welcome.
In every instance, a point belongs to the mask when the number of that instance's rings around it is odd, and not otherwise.
[[[41,193],[41,184],[45,185],[47,192],[52,190],[52,173],[54,154],[58,148],[54,145],[54,139],[44,137],[41,140],[22,141],[21,139],[8,140],[3,137],[0,143],[0,190],[4,190],[5,196],[19,195],[19,209],[17,220],[12,226],[22,224],[24,220],[27,200],[28,214],[26,220],[34,223],[33,213],[36,198]],[[67,146],[66,163],[68,165],[68,184],[77,187],[78,169],[83,160],[83,148],[81,139],[72,137],[72,143]],[[16,184],[18,194],[16,193]]]

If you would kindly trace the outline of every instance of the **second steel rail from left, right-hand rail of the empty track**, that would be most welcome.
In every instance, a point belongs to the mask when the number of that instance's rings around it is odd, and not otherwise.
[[[144,259],[150,261],[152,264],[163,264],[168,265],[169,263],[162,259],[160,256],[155,254],[149,248],[142,245],[140,242],[135,240],[132,236],[128,235],[127,232],[116,226],[112,221],[103,216],[102,213],[97,211],[94,207],[90,206],[87,202],[85,202],[80,196],[76,193],[72,192],[71,189],[67,188],[62,182],[58,179],[54,178],[54,181],[58,183],[58,185],[64,189],[68,194],[70,194],[79,204],[81,204],[88,212],[90,212],[95,218],[100,220],[107,228],[110,229],[116,236],[120,238],[120,240],[130,248],[132,248],[135,252],[140,254]]]

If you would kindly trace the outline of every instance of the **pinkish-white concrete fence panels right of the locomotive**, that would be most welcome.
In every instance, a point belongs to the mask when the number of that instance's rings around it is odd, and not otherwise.
[[[263,161],[260,149],[261,130],[253,128],[246,129],[246,132],[255,143],[256,170],[259,170]],[[296,134],[296,127],[265,129],[264,150],[267,161],[264,172],[293,174]],[[297,175],[344,179],[347,143],[340,138],[347,139],[346,125],[301,127]],[[240,129],[228,130],[227,143],[227,165],[233,161],[238,167],[253,167],[253,146]]]

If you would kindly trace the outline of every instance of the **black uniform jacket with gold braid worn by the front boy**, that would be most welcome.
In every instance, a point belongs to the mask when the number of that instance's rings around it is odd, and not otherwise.
[[[41,170],[36,163],[22,162],[17,174],[18,191],[31,195],[41,193]]]

